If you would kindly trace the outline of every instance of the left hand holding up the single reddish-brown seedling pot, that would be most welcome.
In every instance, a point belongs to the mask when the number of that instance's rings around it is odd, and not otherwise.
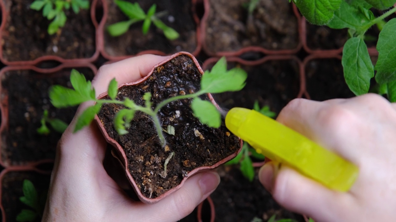
[[[102,66],[92,85],[96,96],[112,78],[119,84],[137,81],[166,57],[142,55]],[[80,105],[76,117],[93,102]],[[220,182],[215,172],[198,173],[160,202],[133,201],[107,174],[107,142],[96,124],[72,133],[76,118],[62,135],[51,175],[42,221],[177,221],[191,213]]]

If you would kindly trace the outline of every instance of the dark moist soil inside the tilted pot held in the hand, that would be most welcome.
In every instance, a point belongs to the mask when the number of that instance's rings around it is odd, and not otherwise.
[[[201,73],[192,59],[180,55],[154,70],[143,83],[120,89],[117,98],[128,97],[143,105],[142,96],[151,92],[153,107],[160,101],[178,94],[199,90]],[[208,100],[208,96],[201,96]],[[162,128],[175,128],[175,135],[164,132],[166,149],[162,148],[150,117],[137,112],[127,135],[120,136],[114,129],[114,115],[121,105],[103,105],[99,119],[110,137],[124,149],[128,169],[141,193],[156,198],[180,184],[188,172],[200,166],[212,166],[240,148],[238,137],[229,134],[225,124],[218,129],[202,124],[190,109],[191,99],[178,100],[163,107],[158,116]],[[201,135],[199,135],[201,134]],[[169,150],[168,150],[169,149]],[[167,166],[168,176],[162,178],[164,162],[171,152],[175,155]]]

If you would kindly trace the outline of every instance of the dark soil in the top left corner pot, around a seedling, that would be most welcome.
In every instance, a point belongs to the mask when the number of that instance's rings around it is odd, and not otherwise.
[[[8,61],[34,60],[44,55],[61,58],[89,58],[95,53],[95,26],[89,9],[78,15],[65,11],[66,24],[53,35],[47,32],[51,21],[42,11],[30,9],[31,0],[5,0],[10,14],[2,34],[3,56]]]

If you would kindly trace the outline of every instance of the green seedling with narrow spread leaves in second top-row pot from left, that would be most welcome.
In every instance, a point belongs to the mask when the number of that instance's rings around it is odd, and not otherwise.
[[[137,2],[131,3],[123,0],[115,0],[115,3],[129,20],[107,26],[107,32],[109,32],[110,36],[120,36],[128,31],[131,24],[143,21],[142,32],[145,35],[150,29],[151,23],[154,23],[157,28],[164,32],[164,36],[169,40],[179,38],[178,32],[160,20],[160,17],[166,15],[166,11],[156,13],[156,4],[153,4],[147,13],[145,13]]]

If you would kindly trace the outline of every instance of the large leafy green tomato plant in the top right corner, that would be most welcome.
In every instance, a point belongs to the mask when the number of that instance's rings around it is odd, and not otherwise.
[[[369,92],[370,79],[375,75],[379,94],[386,94],[396,102],[396,19],[384,24],[384,19],[396,12],[389,9],[396,0],[289,0],[293,1],[306,19],[329,28],[348,28],[349,39],[343,48],[342,65],[346,84],[356,95]],[[387,10],[375,17],[372,8]],[[377,25],[381,30],[377,51],[377,64],[373,66],[364,42],[367,30]],[[375,71],[376,74],[375,74]]]

